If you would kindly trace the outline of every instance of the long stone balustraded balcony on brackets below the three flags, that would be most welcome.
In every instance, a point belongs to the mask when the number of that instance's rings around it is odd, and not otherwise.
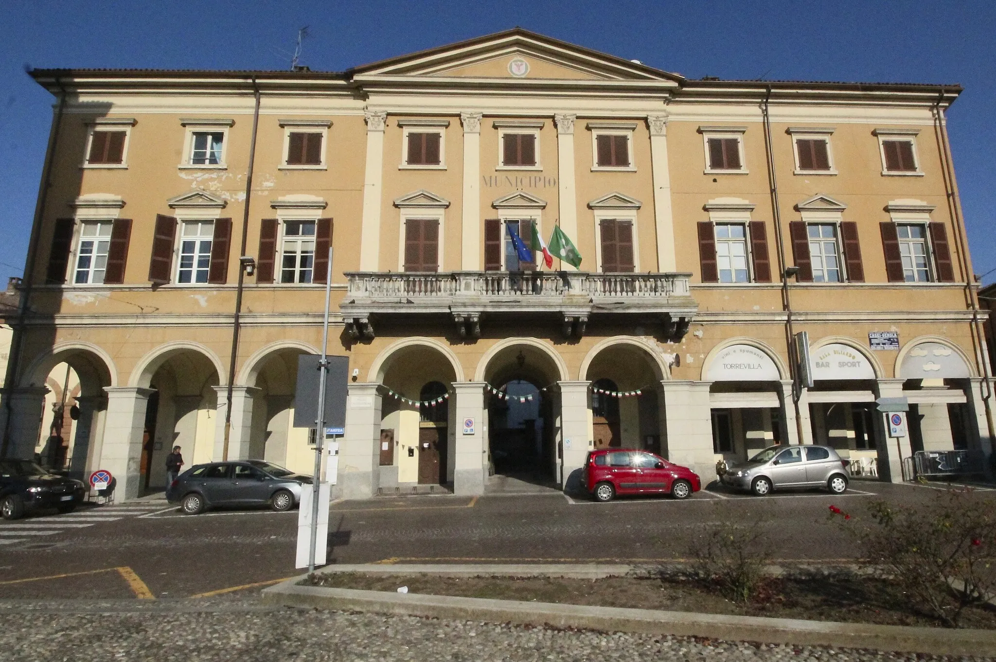
[[[593,316],[639,316],[680,339],[698,305],[690,274],[588,272],[351,272],[340,312],[355,338],[373,337],[373,322],[391,316],[451,316],[461,336],[478,337],[481,319],[556,315],[566,335],[581,337]],[[633,322],[636,322],[633,320]]]

